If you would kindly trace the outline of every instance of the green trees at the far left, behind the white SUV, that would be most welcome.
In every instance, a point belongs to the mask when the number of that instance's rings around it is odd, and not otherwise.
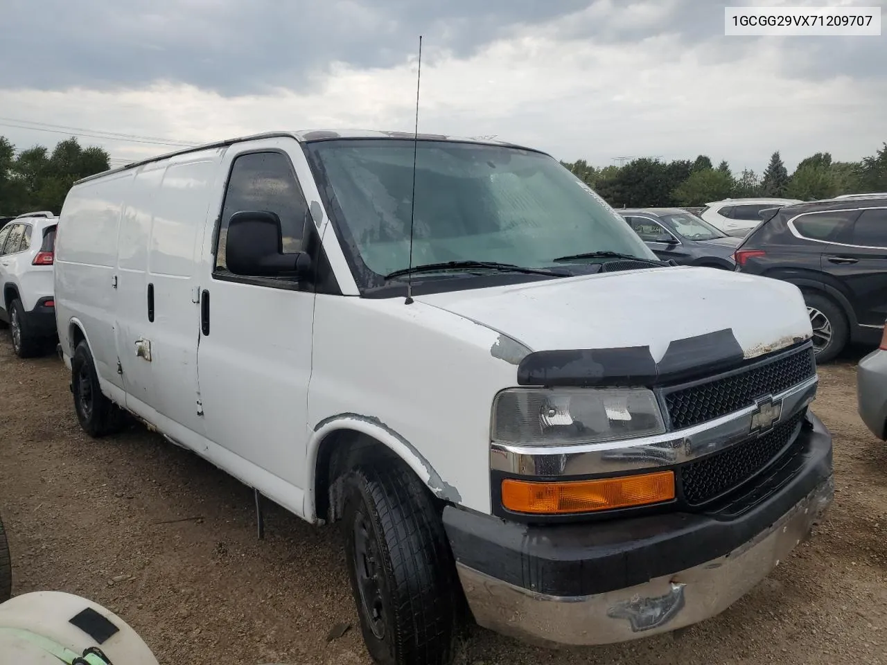
[[[0,215],[50,210],[58,215],[71,185],[109,167],[102,148],[83,148],[75,137],[60,141],[52,152],[35,145],[16,153],[0,137]]]

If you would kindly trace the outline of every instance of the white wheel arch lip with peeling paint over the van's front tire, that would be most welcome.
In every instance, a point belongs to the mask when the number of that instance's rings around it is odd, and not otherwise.
[[[318,422],[308,442],[308,482],[306,483],[307,491],[303,507],[303,512],[307,519],[317,519],[315,512],[318,503],[316,491],[320,445],[329,434],[346,431],[365,434],[386,446],[398,458],[402,459],[404,464],[412,469],[412,472],[428,486],[428,489],[436,497],[451,503],[459,503],[462,500],[459,491],[441,478],[440,474],[428,462],[428,459],[419,450],[416,450],[416,447],[411,442],[407,441],[404,436],[398,434],[380,419],[358,413],[339,413]]]

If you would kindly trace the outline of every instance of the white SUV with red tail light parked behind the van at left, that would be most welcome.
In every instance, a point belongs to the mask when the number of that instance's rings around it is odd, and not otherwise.
[[[56,335],[52,263],[58,222],[50,212],[27,213],[0,229],[0,321],[9,324],[20,358],[35,356]]]

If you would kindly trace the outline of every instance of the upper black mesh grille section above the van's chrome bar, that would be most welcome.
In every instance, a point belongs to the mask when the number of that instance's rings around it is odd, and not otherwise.
[[[721,379],[666,392],[665,406],[671,425],[683,429],[739,411],[758,397],[781,393],[815,373],[813,349],[805,348]]]

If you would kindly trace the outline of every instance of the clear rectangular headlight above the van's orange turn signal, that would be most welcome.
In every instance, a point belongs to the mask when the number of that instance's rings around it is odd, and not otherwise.
[[[491,434],[499,443],[590,443],[664,431],[645,388],[508,388],[493,403]]]

